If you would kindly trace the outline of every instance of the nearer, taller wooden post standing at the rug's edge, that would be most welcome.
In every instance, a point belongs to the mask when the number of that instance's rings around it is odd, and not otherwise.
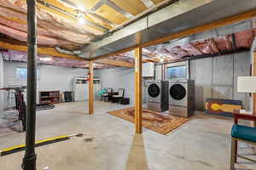
[[[135,49],[135,127],[136,133],[143,133],[143,96],[142,96],[142,48]]]

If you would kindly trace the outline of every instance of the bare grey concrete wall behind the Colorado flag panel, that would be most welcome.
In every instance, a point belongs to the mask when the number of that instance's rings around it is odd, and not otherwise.
[[[207,98],[238,99],[249,109],[249,97],[237,92],[237,77],[250,74],[250,53],[230,54],[190,62],[195,81],[195,109],[205,111]]]

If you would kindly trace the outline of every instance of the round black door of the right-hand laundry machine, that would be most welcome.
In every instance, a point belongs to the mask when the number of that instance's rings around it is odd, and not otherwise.
[[[172,96],[172,99],[182,100],[186,97],[186,94],[186,89],[180,84],[174,84],[170,88],[170,95]]]

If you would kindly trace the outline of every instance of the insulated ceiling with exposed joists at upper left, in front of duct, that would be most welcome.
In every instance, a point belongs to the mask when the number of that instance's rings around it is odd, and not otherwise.
[[[156,4],[150,0],[147,4]],[[162,2],[159,0],[157,3]],[[133,0],[38,0],[38,44],[79,48],[102,37],[137,14],[147,10],[145,2]],[[26,41],[26,0],[0,0],[0,32]],[[84,24],[79,23],[83,14]],[[9,31],[7,31],[9,30]],[[15,32],[15,35],[10,33]],[[17,34],[20,34],[17,35]],[[43,37],[42,37],[43,36]]]

